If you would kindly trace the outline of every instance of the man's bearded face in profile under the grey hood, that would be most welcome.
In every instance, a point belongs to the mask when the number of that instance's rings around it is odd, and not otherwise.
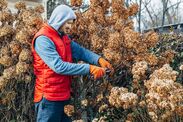
[[[74,20],[68,20],[64,25],[60,28],[60,31],[64,31],[66,34],[70,34],[72,25]]]

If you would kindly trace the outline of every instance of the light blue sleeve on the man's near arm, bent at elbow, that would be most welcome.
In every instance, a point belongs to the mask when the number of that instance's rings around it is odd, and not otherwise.
[[[48,37],[38,37],[34,46],[40,58],[56,73],[63,75],[89,74],[89,64],[64,62],[57,53],[54,43]]]

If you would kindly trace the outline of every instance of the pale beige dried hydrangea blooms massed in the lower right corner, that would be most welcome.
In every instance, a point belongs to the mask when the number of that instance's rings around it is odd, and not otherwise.
[[[145,81],[148,90],[145,98],[153,121],[168,121],[175,113],[183,115],[183,86],[175,82],[177,75],[177,71],[165,64]]]

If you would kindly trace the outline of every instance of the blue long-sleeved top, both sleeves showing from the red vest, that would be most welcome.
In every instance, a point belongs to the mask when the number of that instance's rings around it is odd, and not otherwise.
[[[64,62],[56,51],[54,43],[46,36],[39,36],[35,40],[35,51],[40,58],[56,73],[63,75],[89,74],[89,64]],[[72,58],[98,65],[99,55],[71,41]]]

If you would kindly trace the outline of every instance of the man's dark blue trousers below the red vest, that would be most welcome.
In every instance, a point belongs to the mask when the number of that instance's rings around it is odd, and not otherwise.
[[[67,101],[49,101],[43,98],[35,103],[36,122],[72,122],[64,113],[64,106],[69,104]]]

